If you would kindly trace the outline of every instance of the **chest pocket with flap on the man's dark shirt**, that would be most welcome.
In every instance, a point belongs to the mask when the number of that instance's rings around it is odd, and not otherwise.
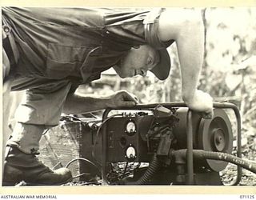
[[[46,58],[46,76],[62,79],[78,71],[90,51],[88,46],[63,46],[49,43]]]

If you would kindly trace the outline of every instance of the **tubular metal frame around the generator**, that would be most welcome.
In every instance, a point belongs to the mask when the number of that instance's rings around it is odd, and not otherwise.
[[[166,108],[174,108],[174,107],[187,107],[184,102],[169,102],[169,103],[153,103],[153,104],[138,104],[133,107],[119,107],[119,108],[108,108],[105,110],[102,116],[102,122],[106,120],[108,114],[111,110],[150,110],[154,109],[154,107],[162,105]],[[234,114],[237,118],[237,156],[242,158],[242,150],[241,150],[241,116],[238,110],[238,107],[232,103],[228,102],[214,102],[214,108],[222,108],[222,109],[231,109],[234,110]],[[192,123],[192,110],[189,110],[187,113],[187,185],[194,185],[194,163],[193,163],[193,123]],[[106,178],[106,149],[107,149],[107,138],[106,138],[106,126],[103,127],[102,133],[102,179],[103,184],[109,185],[109,182]],[[231,186],[238,185],[241,181],[242,177],[242,168],[237,166],[237,176],[236,179],[230,183]]]

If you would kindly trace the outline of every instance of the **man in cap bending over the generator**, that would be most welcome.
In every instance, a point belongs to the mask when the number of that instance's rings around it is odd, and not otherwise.
[[[62,110],[84,113],[134,106],[137,99],[126,91],[102,98],[74,91],[110,67],[121,78],[145,76],[150,70],[164,80],[170,72],[166,48],[173,42],[178,47],[184,102],[211,117],[212,98],[197,90],[204,38],[196,11],[5,7],[2,20],[9,42],[4,42],[3,56],[10,60],[10,67],[8,62],[3,65],[5,81],[11,82],[11,90],[26,90],[7,142],[4,185],[22,180],[34,185],[69,182],[69,170],[52,171],[35,157],[43,130],[58,124]]]

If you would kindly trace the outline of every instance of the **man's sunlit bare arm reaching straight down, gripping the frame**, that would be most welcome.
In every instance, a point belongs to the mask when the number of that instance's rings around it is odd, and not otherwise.
[[[199,11],[170,9],[159,18],[158,37],[174,39],[182,73],[182,98],[192,110],[212,114],[212,98],[197,90],[204,54],[204,29]]]

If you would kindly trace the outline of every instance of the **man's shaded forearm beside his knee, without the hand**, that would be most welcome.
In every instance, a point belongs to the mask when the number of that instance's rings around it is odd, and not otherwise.
[[[63,112],[66,114],[79,114],[106,109],[109,99],[96,98],[89,95],[69,94],[66,98]]]

